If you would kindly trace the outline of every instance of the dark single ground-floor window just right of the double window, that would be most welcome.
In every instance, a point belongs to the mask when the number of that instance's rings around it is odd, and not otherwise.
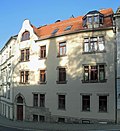
[[[58,95],[58,109],[65,110],[65,95]]]

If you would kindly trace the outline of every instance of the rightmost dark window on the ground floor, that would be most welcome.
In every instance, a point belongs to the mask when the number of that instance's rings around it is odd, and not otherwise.
[[[99,96],[99,111],[107,112],[107,96]]]

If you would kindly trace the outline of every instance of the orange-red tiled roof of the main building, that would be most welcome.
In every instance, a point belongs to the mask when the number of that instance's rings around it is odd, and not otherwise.
[[[99,12],[104,15],[104,24],[102,28],[112,26],[112,19],[110,15],[114,14],[113,10],[109,8],[109,9],[100,10]],[[32,27],[34,29],[34,32],[37,34],[37,36],[43,39],[47,37],[52,37],[53,36],[52,32],[57,28],[59,30],[55,33],[55,35],[62,35],[62,34],[71,33],[71,32],[75,32],[79,30],[84,30],[83,25],[82,25],[83,24],[82,18],[83,16],[79,16],[76,18],[69,18],[68,20],[56,22],[50,25],[41,26],[39,28],[36,28],[35,26],[32,26]],[[68,31],[65,31],[65,28],[70,25],[72,25],[72,28]]]

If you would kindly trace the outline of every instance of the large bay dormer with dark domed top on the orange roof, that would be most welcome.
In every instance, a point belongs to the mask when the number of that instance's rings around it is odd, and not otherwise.
[[[83,17],[84,28],[98,28],[103,25],[104,15],[98,11],[90,11]]]

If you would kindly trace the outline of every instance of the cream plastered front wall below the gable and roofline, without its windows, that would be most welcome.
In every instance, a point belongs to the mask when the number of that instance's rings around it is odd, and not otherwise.
[[[22,31],[21,31],[22,32]],[[104,53],[84,54],[83,38],[87,36],[105,36]],[[18,35],[18,38],[20,36]],[[47,40],[18,42],[16,46],[17,55],[14,63],[14,99],[21,93],[25,98],[25,120],[33,119],[33,114],[43,113],[47,120],[57,121],[58,117],[64,117],[66,121],[90,120],[115,121],[115,72],[114,72],[114,33],[112,30],[81,32]],[[19,40],[19,39],[18,39]],[[67,42],[67,56],[57,57],[59,42]],[[40,59],[40,46],[46,45],[46,59]],[[18,49],[19,46],[19,49]],[[30,61],[19,62],[20,50],[30,48]],[[104,83],[82,83],[83,65],[105,63],[106,79]],[[57,84],[57,67],[66,67],[67,84]],[[47,83],[39,84],[39,71],[46,69]],[[29,70],[29,84],[19,84],[20,70]],[[33,93],[45,94],[45,108],[33,107]],[[58,109],[58,94],[65,94],[66,109]],[[90,112],[82,111],[82,94],[90,94]],[[99,95],[107,95],[108,111],[99,112]],[[38,111],[39,109],[39,111]],[[49,115],[47,115],[49,114]]]

